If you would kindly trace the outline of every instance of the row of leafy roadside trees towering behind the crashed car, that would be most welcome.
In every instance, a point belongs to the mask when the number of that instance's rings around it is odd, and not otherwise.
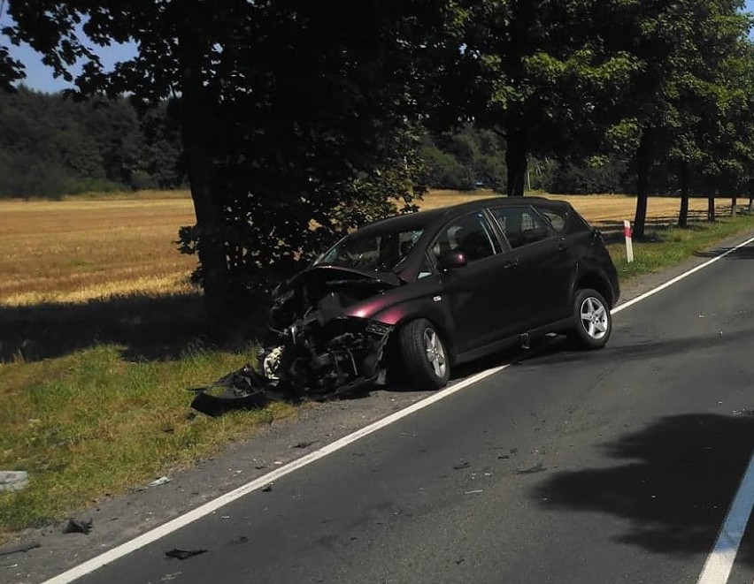
[[[173,101],[196,209],[181,238],[198,253],[212,322],[228,322],[235,292],[271,268],[288,271],[395,205],[412,209],[427,148],[419,127],[436,137],[473,125],[504,140],[509,195],[523,193],[532,156],[625,161],[638,237],[658,163],[683,201],[694,184],[738,192],[753,174],[741,0],[8,6],[12,42],[66,79],[84,59],[80,95],[127,93],[140,111]],[[139,53],[106,72],[84,37],[134,41]],[[3,47],[0,73],[6,86],[23,75]],[[490,158],[478,171],[494,181],[499,170]]]

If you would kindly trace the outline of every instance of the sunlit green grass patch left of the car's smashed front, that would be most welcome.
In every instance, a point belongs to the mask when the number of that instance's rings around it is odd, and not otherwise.
[[[0,366],[0,468],[27,489],[0,494],[0,534],[59,520],[106,494],[190,466],[293,412],[273,405],[219,419],[195,415],[186,388],[211,383],[251,354],[196,351],[130,362],[98,345]],[[0,536],[2,539],[2,536]]]

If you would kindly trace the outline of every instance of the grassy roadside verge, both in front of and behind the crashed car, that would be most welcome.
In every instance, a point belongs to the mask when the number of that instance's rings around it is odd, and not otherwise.
[[[625,284],[752,229],[751,216],[725,217],[687,230],[656,228],[646,241],[635,243],[632,264],[625,260],[622,241],[612,243],[610,251]],[[185,389],[212,382],[252,355],[204,348],[192,340],[191,330],[183,331],[178,349],[139,351],[139,335],[151,340],[155,334],[143,328],[157,314],[148,304],[128,304],[120,315],[117,304],[92,315],[78,313],[80,326],[89,318],[96,327],[70,331],[69,337],[59,329],[72,326],[70,320],[44,321],[38,336],[58,335],[53,344],[58,351],[50,352],[40,341],[38,353],[31,347],[27,354],[0,360],[0,469],[27,470],[31,478],[27,489],[0,493],[0,542],[21,528],[65,518],[102,497],[191,466],[260,425],[295,413],[293,406],[276,405],[216,420],[193,415]],[[0,306],[0,315],[2,310]],[[133,324],[134,335],[108,335],[103,328],[107,315],[112,315],[113,330],[121,334]],[[30,314],[19,313],[19,319],[25,333],[34,327]],[[82,330],[91,342],[69,345],[81,338]]]

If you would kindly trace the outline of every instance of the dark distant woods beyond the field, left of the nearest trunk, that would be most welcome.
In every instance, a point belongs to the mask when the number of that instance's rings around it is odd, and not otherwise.
[[[140,120],[126,99],[0,92],[0,197],[176,188],[180,151],[164,107]]]

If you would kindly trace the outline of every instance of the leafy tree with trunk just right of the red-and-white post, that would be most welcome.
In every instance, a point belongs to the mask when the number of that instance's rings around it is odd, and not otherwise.
[[[627,90],[604,102],[608,107],[600,112],[607,143],[629,158],[636,176],[636,237],[644,233],[652,167],[676,163],[685,189],[689,166],[704,156],[707,145],[689,126],[695,118],[709,121],[713,112],[704,110],[704,102],[727,91],[719,85],[719,67],[748,31],[742,6],[740,0],[597,5],[605,48],[630,54],[638,64]]]

